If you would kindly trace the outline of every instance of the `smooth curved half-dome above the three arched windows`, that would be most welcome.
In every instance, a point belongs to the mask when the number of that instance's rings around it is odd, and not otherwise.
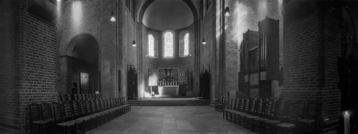
[[[151,29],[181,29],[197,19],[198,0],[144,0],[136,2],[138,20]]]

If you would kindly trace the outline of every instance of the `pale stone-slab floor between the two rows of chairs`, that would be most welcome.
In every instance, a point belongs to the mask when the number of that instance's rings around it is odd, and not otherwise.
[[[254,133],[222,119],[212,106],[132,106],[86,133]]]

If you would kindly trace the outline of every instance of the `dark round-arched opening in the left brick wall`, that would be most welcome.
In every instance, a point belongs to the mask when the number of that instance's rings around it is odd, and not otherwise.
[[[69,43],[66,52],[67,79],[73,87],[73,83],[78,83],[77,93],[66,90],[66,94],[95,94],[99,88],[98,76],[98,52],[97,40],[89,34],[75,36]]]

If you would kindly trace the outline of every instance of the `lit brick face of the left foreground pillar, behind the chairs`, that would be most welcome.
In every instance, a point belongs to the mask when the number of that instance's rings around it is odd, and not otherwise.
[[[19,1],[16,45],[16,75],[19,96],[18,127],[29,130],[26,106],[32,102],[57,100],[58,53],[56,24],[47,21],[26,9],[26,1]]]

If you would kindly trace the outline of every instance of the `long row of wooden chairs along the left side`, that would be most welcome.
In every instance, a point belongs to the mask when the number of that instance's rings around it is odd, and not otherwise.
[[[38,126],[37,133],[43,133],[45,127],[49,128],[46,133],[55,133],[56,130],[62,133],[81,130],[84,133],[86,128],[91,130],[130,111],[124,97],[31,103],[28,106],[31,133],[33,125]]]

